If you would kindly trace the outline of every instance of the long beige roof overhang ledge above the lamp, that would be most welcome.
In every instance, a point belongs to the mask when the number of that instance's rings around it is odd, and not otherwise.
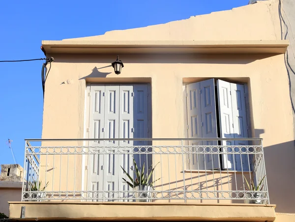
[[[284,54],[288,40],[42,41],[47,54]]]

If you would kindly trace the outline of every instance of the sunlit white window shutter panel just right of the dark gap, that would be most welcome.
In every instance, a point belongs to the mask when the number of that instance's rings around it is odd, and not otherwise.
[[[233,109],[231,98],[231,83],[217,80],[218,108],[219,108],[219,127],[221,138],[235,138],[233,125]],[[222,145],[235,145],[233,140],[223,140]],[[222,148],[223,152],[231,153],[231,148]],[[234,155],[222,154],[222,167],[234,170]]]

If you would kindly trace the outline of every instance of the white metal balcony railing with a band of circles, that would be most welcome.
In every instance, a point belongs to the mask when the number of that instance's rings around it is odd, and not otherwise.
[[[22,201],[269,203],[262,139],[235,140],[26,139]]]

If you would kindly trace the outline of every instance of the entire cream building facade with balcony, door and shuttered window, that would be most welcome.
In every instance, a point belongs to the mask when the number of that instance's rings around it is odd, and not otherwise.
[[[43,41],[55,61],[42,144],[26,146],[26,169],[42,185],[24,188],[10,217],[26,206],[28,218],[293,221],[290,47],[280,5]],[[30,167],[34,154],[40,164]]]

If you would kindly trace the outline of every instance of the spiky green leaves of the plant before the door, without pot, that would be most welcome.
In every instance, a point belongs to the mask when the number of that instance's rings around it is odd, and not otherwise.
[[[159,162],[160,163],[160,162]],[[148,172],[147,174],[145,174],[145,163],[143,164],[143,167],[141,169],[138,168],[134,158],[133,158],[133,165],[134,165],[134,172],[136,174],[136,178],[133,179],[132,176],[130,176],[129,173],[126,172],[126,170],[121,166],[122,170],[124,171],[124,173],[126,173],[127,177],[130,179],[130,182],[127,181],[125,178],[122,178],[130,187],[135,188],[137,186],[150,186],[153,187],[154,183],[156,181],[158,181],[160,178],[154,180],[154,181],[150,181],[150,179],[152,178],[152,173],[155,169],[155,167],[159,164],[157,163],[153,168],[152,166],[148,168]],[[131,168],[132,169],[132,168]]]

